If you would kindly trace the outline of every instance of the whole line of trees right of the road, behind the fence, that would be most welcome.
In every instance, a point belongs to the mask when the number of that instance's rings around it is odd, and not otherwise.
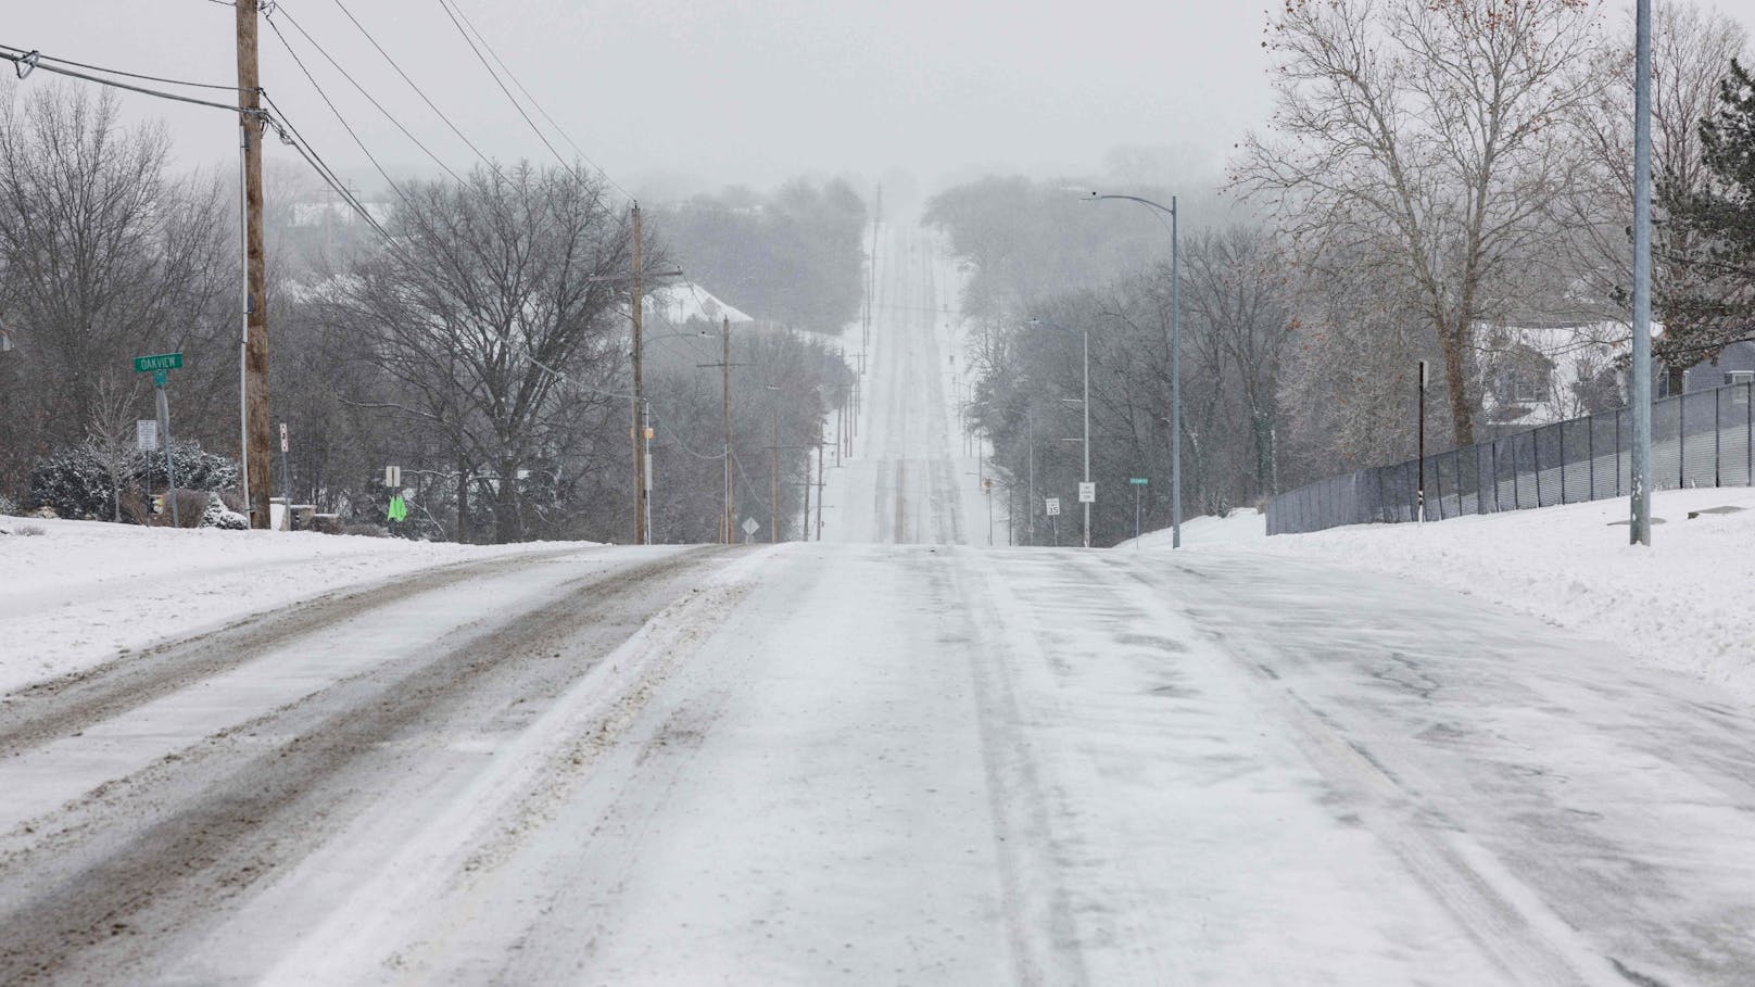
[[[1272,118],[1227,174],[1181,184],[1185,513],[1413,455],[1415,367],[1434,367],[1429,443],[1499,427],[1518,327],[1576,327],[1555,407],[1620,406],[1632,279],[1632,19],[1595,0],[1293,0],[1271,18]],[[1755,337],[1755,86],[1744,30],[1657,4],[1655,318],[1660,392]],[[1060,471],[1092,339],[1099,541],[1132,534],[1120,481],[1151,472],[1169,523],[1169,237],[1069,186],[985,179],[927,221],[972,267],[988,374],[971,423],[1007,472]],[[1123,190],[1113,190],[1123,191]],[[1035,320],[1035,321],[1032,321]],[[1042,327],[1060,325],[1065,332]],[[1072,341],[1072,342],[1069,342]],[[1618,357],[1616,357],[1618,355]],[[1044,392],[1042,385],[1051,383]],[[1071,465],[1069,465],[1071,464]],[[1120,478],[1120,479],[1116,479]],[[1021,479],[1020,479],[1021,483]],[[1041,504],[1034,506],[1035,513]]]

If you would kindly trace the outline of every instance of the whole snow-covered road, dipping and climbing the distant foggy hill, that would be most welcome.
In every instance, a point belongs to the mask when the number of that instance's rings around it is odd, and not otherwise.
[[[546,546],[7,695],[0,983],[1750,982],[1746,710],[1376,576],[988,550],[955,267],[883,244],[832,541]]]

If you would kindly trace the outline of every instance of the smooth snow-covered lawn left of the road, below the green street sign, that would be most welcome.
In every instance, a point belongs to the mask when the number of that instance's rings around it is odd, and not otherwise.
[[[332,590],[556,548],[7,516],[0,532],[0,694]]]

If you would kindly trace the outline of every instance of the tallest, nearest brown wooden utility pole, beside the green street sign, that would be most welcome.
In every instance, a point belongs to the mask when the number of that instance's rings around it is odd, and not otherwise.
[[[256,72],[256,4],[237,0],[237,105],[244,151],[244,341],[239,458],[249,525],[269,516],[269,267],[261,244],[261,88]]]

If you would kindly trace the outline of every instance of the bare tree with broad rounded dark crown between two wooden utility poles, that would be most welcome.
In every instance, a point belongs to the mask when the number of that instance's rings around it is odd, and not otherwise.
[[[591,388],[627,360],[627,214],[602,183],[526,163],[407,190],[391,234],[325,290],[330,316],[402,388],[358,399],[442,436],[460,515],[484,485],[495,539],[518,539],[521,488],[567,485],[558,464],[590,430],[579,411],[602,406]]]

